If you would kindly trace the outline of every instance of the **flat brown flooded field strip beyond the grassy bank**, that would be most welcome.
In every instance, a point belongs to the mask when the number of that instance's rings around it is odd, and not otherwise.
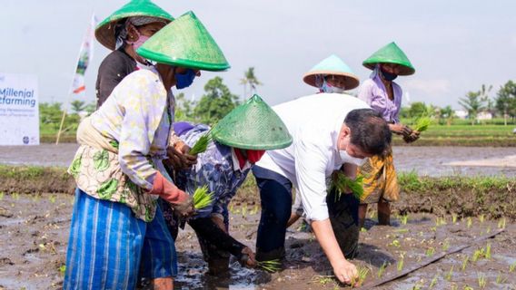
[[[74,159],[78,145],[41,144],[39,146],[0,146],[0,164],[39,165],[67,167]],[[452,166],[450,162],[502,159],[516,155],[516,148],[501,147],[412,147],[394,146],[394,163],[400,171],[415,170],[419,175],[503,175],[516,176],[516,167],[504,167],[494,162],[492,167],[463,163]],[[478,162],[477,162],[478,163]],[[456,165],[460,165],[454,163]]]

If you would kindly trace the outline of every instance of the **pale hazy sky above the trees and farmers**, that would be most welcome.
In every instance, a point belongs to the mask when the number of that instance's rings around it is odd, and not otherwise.
[[[98,66],[109,51],[94,43],[86,71],[86,95],[68,95],[77,54],[91,15],[102,21],[124,5],[119,0],[0,0],[0,73],[30,73],[39,80],[40,102],[94,102]],[[416,73],[399,77],[403,104],[460,109],[458,100],[482,84],[516,79],[516,2],[363,0],[154,0],[178,17],[192,10],[222,48],[232,68],[203,72],[181,90],[198,100],[205,82],[223,78],[243,95],[240,79],[254,67],[258,94],[271,105],[316,90],[303,73],[332,53],[361,81],[371,71],[362,61],[392,41]],[[356,91],[352,91],[356,92]],[[408,96],[408,97],[407,97]],[[249,97],[249,96],[247,96]]]

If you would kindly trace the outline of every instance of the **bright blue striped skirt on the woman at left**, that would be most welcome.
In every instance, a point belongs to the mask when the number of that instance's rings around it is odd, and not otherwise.
[[[174,240],[161,208],[145,223],[122,203],[75,190],[64,289],[134,289],[138,276],[176,274]]]

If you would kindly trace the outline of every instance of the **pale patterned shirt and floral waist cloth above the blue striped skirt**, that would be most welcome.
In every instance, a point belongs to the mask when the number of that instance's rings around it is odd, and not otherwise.
[[[167,94],[155,69],[129,74],[89,118],[94,129],[117,150],[82,144],[69,172],[77,187],[94,198],[125,203],[137,218],[151,221],[159,170],[170,179],[162,160],[174,121],[174,96]]]

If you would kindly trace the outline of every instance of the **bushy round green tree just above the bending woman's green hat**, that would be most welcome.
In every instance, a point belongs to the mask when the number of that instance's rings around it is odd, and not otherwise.
[[[197,121],[213,124],[239,104],[238,96],[229,91],[221,77],[206,82],[204,92],[193,110]]]

